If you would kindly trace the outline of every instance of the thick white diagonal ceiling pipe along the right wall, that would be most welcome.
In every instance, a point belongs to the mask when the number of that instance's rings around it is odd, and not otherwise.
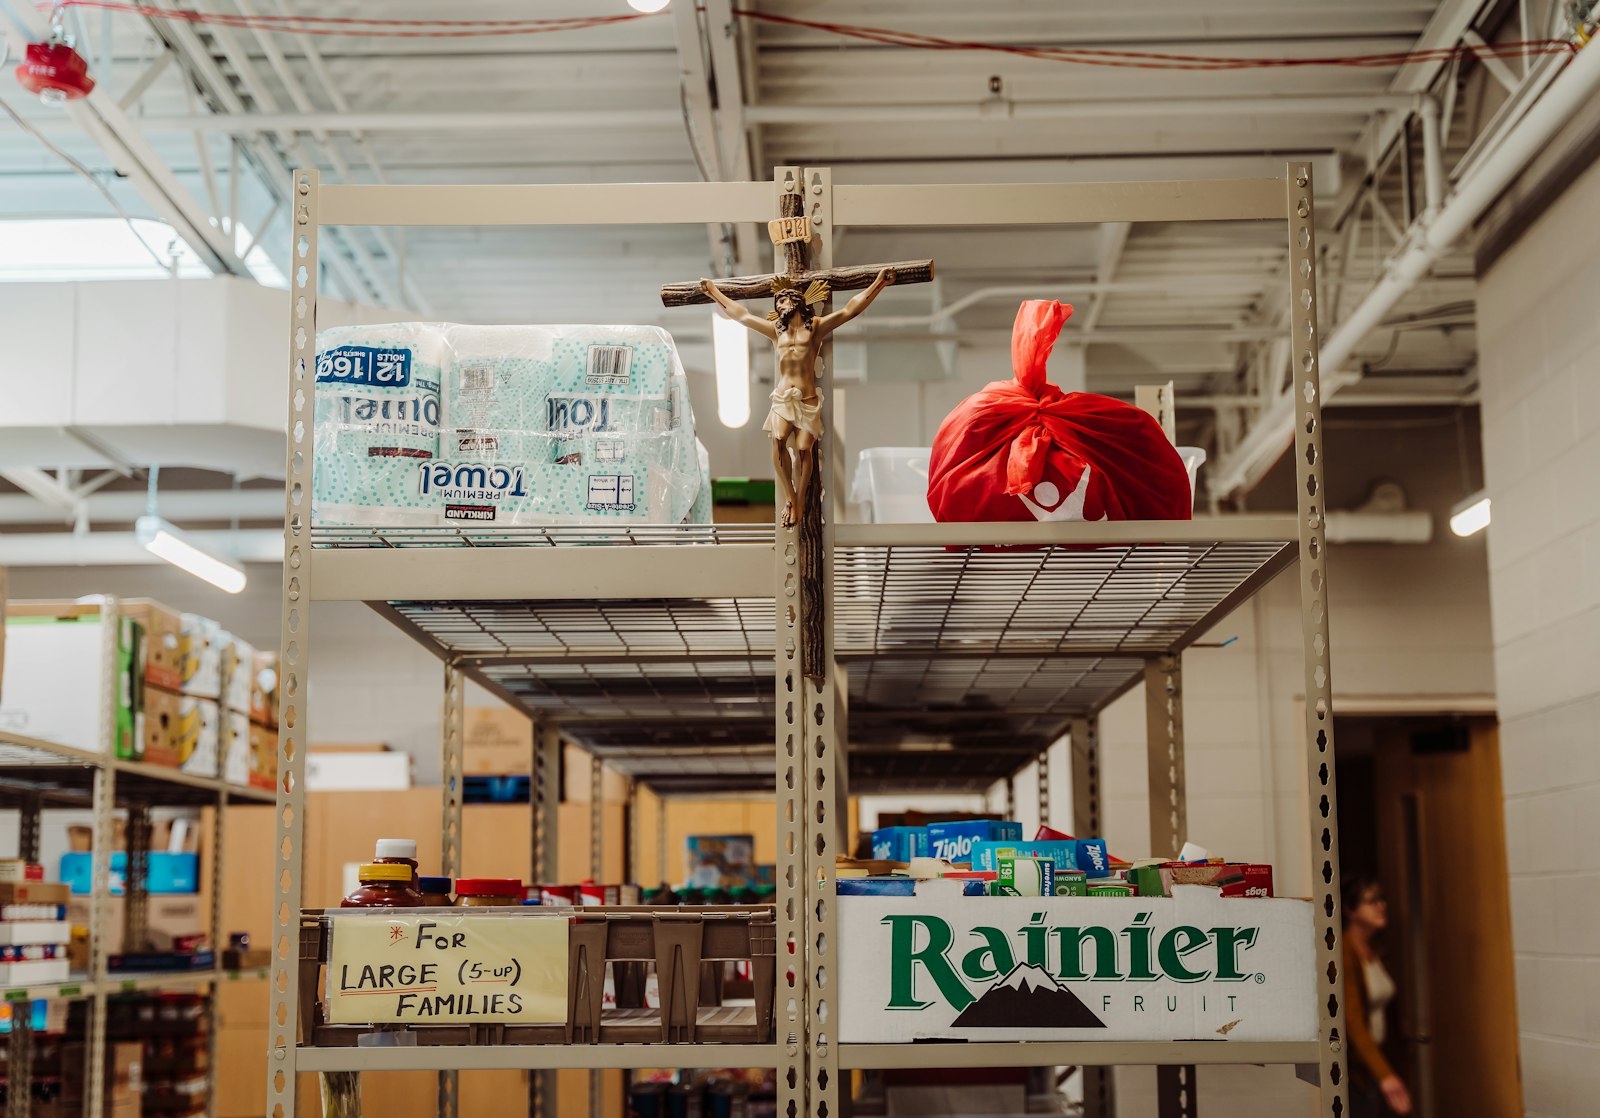
[[[1411,291],[1434,264],[1472,229],[1496,198],[1504,194],[1528,163],[1550,142],[1571,117],[1600,91],[1600,50],[1584,48],[1557,77],[1494,152],[1474,173],[1456,184],[1454,192],[1432,218],[1426,214],[1411,224],[1403,248],[1389,259],[1384,277],[1366,293],[1350,315],[1341,321],[1322,345],[1322,368],[1338,369],[1350,360],[1355,347],[1366,339],[1384,317]],[[1323,403],[1346,387],[1323,385]],[[1261,414],[1245,440],[1218,462],[1211,473],[1211,491],[1226,496],[1250,489],[1294,441],[1294,392],[1286,390]]]

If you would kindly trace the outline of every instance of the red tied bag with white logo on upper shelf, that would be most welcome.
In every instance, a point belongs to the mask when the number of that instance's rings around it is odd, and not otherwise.
[[[1045,361],[1072,307],[1024,302],[1011,381],[957,406],[933,440],[934,520],[1189,520],[1189,473],[1160,424],[1133,405],[1062,392]]]

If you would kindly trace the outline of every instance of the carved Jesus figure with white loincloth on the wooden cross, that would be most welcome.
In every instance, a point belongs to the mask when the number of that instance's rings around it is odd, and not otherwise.
[[[827,301],[829,288],[822,280],[814,280],[805,291],[784,277],[773,280],[776,309],[766,318],[746,310],[710,280],[699,283],[701,291],[715,299],[730,318],[771,341],[776,350],[773,403],[762,430],[773,437],[773,473],[784,491],[784,510],[779,517],[784,528],[794,528],[805,509],[816,457],[811,448],[822,437],[822,400],[816,385],[816,361],[822,342],[870,307],[878,293],[891,283],[894,269],[886,267],[861,294],[821,318],[811,307]]]

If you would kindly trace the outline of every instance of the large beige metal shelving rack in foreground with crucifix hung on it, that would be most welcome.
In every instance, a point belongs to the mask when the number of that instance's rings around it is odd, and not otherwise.
[[[843,449],[824,443],[826,681],[795,665],[794,534],[771,528],[638,526],[355,529],[310,523],[318,229],[765,222],[782,194],[811,218],[813,264],[837,227],[1050,226],[1102,221],[1282,221],[1298,384],[1298,510],[1162,523],[846,525]],[[840,1113],[840,1068],[1056,1064],[1091,1068],[1090,1113],[1109,1112],[1117,1064],[1154,1064],[1162,1113],[1194,1115],[1194,1064],[1320,1065],[1318,1113],[1344,1112],[1338,985],[1338,827],[1330,713],[1326,539],[1310,166],[1282,179],[838,186],[826,168],[773,184],[322,186],[294,173],[290,309],[278,835],[269,1113],[293,1116],[312,1070],[766,1065],[779,1113]],[[779,259],[779,269],[782,261]],[[650,280],[642,280],[650,281]],[[824,381],[824,424],[832,393]],[[974,550],[1014,545],[1011,550]],[[1298,560],[1306,656],[1306,758],[1318,1038],[1277,1044],[837,1044],[819,979],[837,950],[834,859],[845,795],[986,787],[1072,739],[1074,821],[1099,833],[1096,721],[1146,686],[1152,851],[1187,830],[1181,653]],[[302,681],[312,603],[366,601],[445,664],[445,873],[461,867],[461,702],[472,677],[538,720],[534,865],[554,864],[558,739],[666,795],[773,789],[778,808],[779,979],[773,1044],[318,1049],[298,1043],[298,913],[304,824]],[[792,608],[794,606],[794,608]],[[952,726],[960,726],[952,733]],[[918,749],[938,736],[955,749]],[[848,741],[848,750],[846,750]],[[776,742],[776,747],[774,747]],[[1048,813],[1048,768],[1040,774]],[[314,992],[306,992],[315,996]],[[835,1016],[837,1020],[837,1016]],[[835,1033],[837,1035],[837,1033]],[[843,1080],[848,1091],[848,1076]],[[442,1075],[442,1113],[454,1091]]]

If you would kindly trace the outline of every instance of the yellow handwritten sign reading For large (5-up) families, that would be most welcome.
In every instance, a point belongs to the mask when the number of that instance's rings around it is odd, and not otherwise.
[[[333,916],[326,992],[334,1025],[560,1024],[566,920]]]

